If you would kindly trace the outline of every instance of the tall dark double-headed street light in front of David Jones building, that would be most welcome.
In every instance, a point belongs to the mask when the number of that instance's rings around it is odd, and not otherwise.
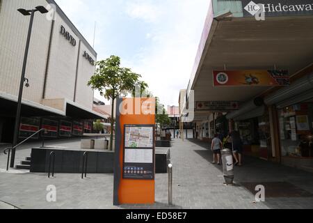
[[[33,17],[35,15],[35,12],[40,12],[42,14],[48,13],[48,10],[44,6],[37,6],[35,9],[26,10],[24,8],[18,9],[19,13],[22,13],[22,15],[29,16],[31,15],[31,21],[29,22],[29,33],[26,40],[26,48],[25,48],[25,54],[24,54],[24,62],[23,62],[23,68],[22,68],[22,76],[21,76],[21,82],[19,84],[19,98],[17,100],[17,112],[15,117],[15,129],[14,129],[14,137],[13,137],[13,147],[17,145],[17,139],[19,136],[19,121],[21,119],[21,107],[22,107],[22,95],[23,95],[23,87],[25,82],[25,71],[26,71],[26,63],[27,63],[27,56],[29,55],[29,42],[31,41],[31,29],[33,28]],[[12,156],[11,156],[11,162],[10,167],[14,167],[14,161],[15,161],[15,148],[12,150]]]

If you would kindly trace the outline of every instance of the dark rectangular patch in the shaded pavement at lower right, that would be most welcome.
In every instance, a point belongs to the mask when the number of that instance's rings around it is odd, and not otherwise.
[[[287,182],[252,182],[241,183],[252,194],[255,194],[257,185],[264,185],[266,197],[313,197],[313,194]]]

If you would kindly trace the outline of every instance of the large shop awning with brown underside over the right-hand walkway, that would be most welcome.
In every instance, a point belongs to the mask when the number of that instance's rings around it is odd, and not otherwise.
[[[266,21],[257,21],[255,17],[237,15],[234,10],[231,10],[233,15],[227,10],[225,13],[216,11],[222,3],[238,5],[242,10],[241,1],[236,1],[236,4],[232,4],[234,1],[218,3],[211,6],[207,15],[187,98],[193,90],[194,102],[238,101],[241,103],[239,109],[250,112],[257,107],[249,101],[273,87],[214,86],[214,70],[284,69],[289,71],[289,75],[294,75],[312,63],[313,29],[309,27],[313,26],[313,15],[273,16],[266,17]],[[240,116],[241,111],[233,112],[232,116]],[[195,117],[202,116],[207,114],[195,111]]]

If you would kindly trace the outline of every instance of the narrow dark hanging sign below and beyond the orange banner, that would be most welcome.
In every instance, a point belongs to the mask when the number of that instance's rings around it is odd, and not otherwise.
[[[239,109],[239,102],[215,101],[215,102],[196,102],[198,111],[233,111]]]

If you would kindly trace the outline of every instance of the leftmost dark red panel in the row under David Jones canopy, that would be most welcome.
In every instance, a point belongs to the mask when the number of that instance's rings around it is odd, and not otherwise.
[[[39,118],[21,118],[19,125],[19,138],[28,138],[40,128]],[[38,134],[36,134],[32,139],[38,139]]]

